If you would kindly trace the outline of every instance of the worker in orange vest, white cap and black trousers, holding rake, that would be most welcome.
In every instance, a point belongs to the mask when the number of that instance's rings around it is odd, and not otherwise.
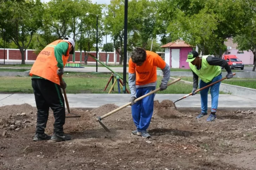
[[[65,89],[66,83],[60,84],[59,76],[64,74],[64,66],[69,54],[73,54],[75,41],[72,38],[56,40],[47,45],[37,56],[30,76],[37,106],[36,134],[33,141],[53,140],[67,141],[71,136],[64,134],[65,102],[60,88]],[[55,123],[53,135],[45,134],[49,109],[53,110]]]

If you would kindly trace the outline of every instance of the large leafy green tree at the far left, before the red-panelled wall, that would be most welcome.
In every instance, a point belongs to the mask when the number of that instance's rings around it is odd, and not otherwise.
[[[5,28],[7,37],[18,46],[21,63],[25,64],[25,51],[42,26],[43,6],[40,0],[1,0],[0,9],[0,15],[5,16],[0,20],[0,28]]]

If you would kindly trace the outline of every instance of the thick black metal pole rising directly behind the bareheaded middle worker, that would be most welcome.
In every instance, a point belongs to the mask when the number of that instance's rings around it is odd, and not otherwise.
[[[128,0],[124,0],[123,94],[126,93],[127,18],[128,18]]]

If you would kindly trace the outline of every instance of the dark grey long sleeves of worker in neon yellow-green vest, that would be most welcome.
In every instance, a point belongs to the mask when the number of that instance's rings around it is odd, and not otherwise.
[[[212,65],[212,66],[224,67],[225,70],[226,70],[228,73],[232,73],[231,68],[229,67],[228,62],[226,62],[226,60],[224,60],[224,59],[212,57],[212,56],[209,55],[209,56],[206,58],[206,61],[207,61],[210,65]],[[198,69],[198,70],[201,69],[201,66],[200,66],[200,68],[197,67],[197,69]],[[196,89],[197,89],[197,88],[198,88],[198,75],[197,75],[196,73],[194,73],[193,71],[192,71],[192,73],[193,73],[193,88],[196,88]]]

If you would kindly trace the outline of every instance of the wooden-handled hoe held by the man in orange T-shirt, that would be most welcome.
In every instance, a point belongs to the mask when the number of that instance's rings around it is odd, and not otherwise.
[[[171,84],[176,83],[177,81],[180,81],[180,78],[175,79],[175,80],[172,81],[172,82],[169,82],[169,83],[167,84],[167,86],[170,86]],[[139,100],[141,100],[142,98],[145,98],[145,97],[147,97],[147,96],[149,96],[149,95],[151,95],[151,94],[154,94],[154,93],[156,93],[156,92],[159,91],[159,90],[160,90],[160,88],[155,89],[155,90],[153,90],[153,91],[151,91],[151,92],[149,92],[149,93],[147,93],[147,94],[145,94],[145,95],[143,95],[143,96],[141,96],[141,97],[139,97],[139,98],[136,98],[134,101],[135,101],[135,102],[136,102],[136,101],[139,101]],[[129,103],[124,104],[123,106],[121,106],[121,107],[119,107],[119,108],[113,110],[113,111],[110,111],[109,113],[107,113],[107,114],[105,114],[105,115],[103,115],[103,116],[97,117],[97,120],[96,120],[96,121],[99,122],[99,123],[101,124],[101,126],[102,126],[107,132],[110,132],[110,130],[101,122],[101,120],[102,120],[103,118],[107,117],[107,116],[112,115],[113,113],[116,113],[117,111],[119,111],[119,110],[121,110],[121,109],[123,109],[123,108],[125,108],[125,107],[127,107],[127,106],[129,106],[129,105],[131,105],[131,104],[132,104],[132,103],[129,102]]]

